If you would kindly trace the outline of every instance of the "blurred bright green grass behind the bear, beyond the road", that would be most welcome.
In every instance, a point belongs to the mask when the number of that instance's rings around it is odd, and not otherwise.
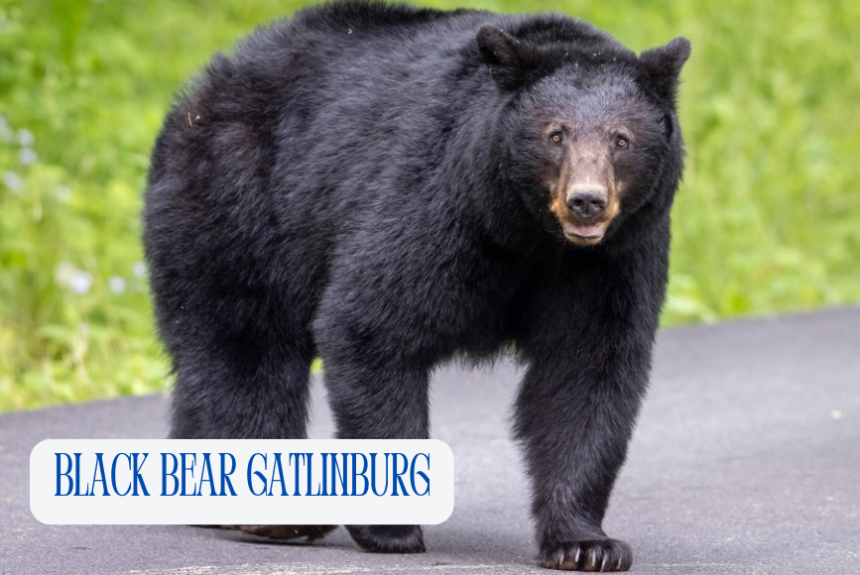
[[[140,269],[150,146],[212,51],[299,4],[0,0],[0,411],[168,386]],[[692,40],[664,324],[860,301],[860,3],[541,7],[635,50]]]

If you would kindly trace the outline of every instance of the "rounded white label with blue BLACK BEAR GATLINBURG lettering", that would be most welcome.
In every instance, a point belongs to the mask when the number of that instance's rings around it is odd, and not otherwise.
[[[48,439],[30,509],[58,525],[434,525],[454,510],[454,454],[437,439]]]

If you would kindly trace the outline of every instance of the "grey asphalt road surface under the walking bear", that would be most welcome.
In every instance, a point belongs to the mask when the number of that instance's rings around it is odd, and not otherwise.
[[[518,370],[439,370],[433,430],[456,457],[456,507],[428,553],[371,555],[344,529],[314,545],[182,526],[46,526],[30,514],[46,438],[158,438],[144,397],[0,416],[2,573],[548,573],[510,441]],[[316,382],[312,437],[332,424]],[[635,573],[860,573],[860,309],[670,329],[605,527]]]

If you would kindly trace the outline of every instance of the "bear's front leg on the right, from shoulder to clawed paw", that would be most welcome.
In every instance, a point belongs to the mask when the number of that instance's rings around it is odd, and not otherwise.
[[[630,548],[602,522],[648,383],[665,268],[578,263],[543,283],[528,310],[516,433],[541,564],[626,571]]]

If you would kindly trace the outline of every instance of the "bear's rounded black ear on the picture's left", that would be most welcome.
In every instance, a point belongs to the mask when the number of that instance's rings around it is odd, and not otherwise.
[[[478,50],[490,75],[503,91],[522,87],[535,66],[535,51],[531,46],[505,34],[495,26],[478,30]]]

